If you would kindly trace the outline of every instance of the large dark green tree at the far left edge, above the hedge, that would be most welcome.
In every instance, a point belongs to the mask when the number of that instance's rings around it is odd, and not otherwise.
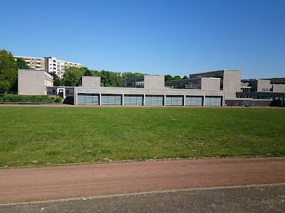
[[[11,52],[0,50],[1,91],[8,92],[17,82],[18,70]]]

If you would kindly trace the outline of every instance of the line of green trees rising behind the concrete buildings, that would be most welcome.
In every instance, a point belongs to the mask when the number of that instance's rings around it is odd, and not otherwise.
[[[0,94],[6,92],[18,91],[18,69],[31,69],[23,58],[14,59],[14,55],[7,50],[0,50]],[[122,87],[120,80],[135,77],[142,74],[140,72],[112,72],[106,70],[89,70],[88,67],[65,67],[63,78],[60,79],[56,73],[49,72],[53,75],[54,86],[75,87],[82,76],[100,77],[101,87]],[[181,77],[176,75],[165,75],[165,81],[180,80]],[[187,79],[184,76],[182,79]]]

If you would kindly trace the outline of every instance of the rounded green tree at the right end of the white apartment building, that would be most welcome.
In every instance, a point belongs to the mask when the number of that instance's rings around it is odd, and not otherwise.
[[[66,68],[63,75],[63,85],[66,87],[75,87],[78,84],[78,81],[82,77],[82,72],[78,67],[69,67]]]

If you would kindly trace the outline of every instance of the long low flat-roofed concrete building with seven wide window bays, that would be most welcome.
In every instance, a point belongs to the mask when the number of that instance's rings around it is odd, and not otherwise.
[[[74,87],[74,104],[135,106],[224,106],[224,91]]]

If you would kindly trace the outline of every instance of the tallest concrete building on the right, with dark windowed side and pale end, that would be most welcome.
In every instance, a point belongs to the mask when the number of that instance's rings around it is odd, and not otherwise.
[[[220,78],[220,89],[225,91],[226,98],[236,97],[236,92],[240,92],[241,89],[241,70],[217,70],[211,72],[195,73],[190,75],[190,79],[199,77]]]

